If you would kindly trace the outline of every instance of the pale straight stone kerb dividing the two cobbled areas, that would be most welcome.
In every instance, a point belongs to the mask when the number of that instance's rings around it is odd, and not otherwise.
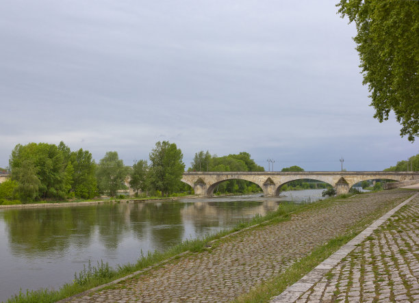
[[[283,291],[280,295],[277,295],[270,299],[270,302],[275,303],[290,303],[295,302],[300,298],[303,293],[308,291],[310,288],[312,288],[316,282],[320,281],[320,279],[329,272],[330,269],[335,267],[335,265],[338,265],[342,259],[344,259],[345,256],[347,256],[352,250],[355,249],[357,244],[361,243],[366,239],[366,237],[370,236],[372,232],[377,229],[381,224],[383,224],[388,218],[390,218],[396,211],[401,209],[401,207],[407,205],[411,200],[416,198],[419,193],[414,194],[407,200],[401,202],[401,204],[394,207],[394,209],[388,211],[388,213],[385,213],[385,215],[381,216],[378,220],[374,221],[370,226],[368,226],[365,230],[363,230],[359,235],[351,239],[351,241],[348,241],[342,248],[337,250],[335,253],[333,253],[329,258],[327,258],[325,261],[320,263],[318,266],[316,266],[311,272],[309,272],[307,275],[303,276],[299,281],[295,282],[290,287],[287,287],[285,291]]]

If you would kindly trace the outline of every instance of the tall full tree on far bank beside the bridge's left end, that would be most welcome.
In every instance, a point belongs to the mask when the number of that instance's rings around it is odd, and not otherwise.
[[[150,183],[166,196],[179,188],[185,170],[183,155],[175,143],[157,142],[151,150]]]

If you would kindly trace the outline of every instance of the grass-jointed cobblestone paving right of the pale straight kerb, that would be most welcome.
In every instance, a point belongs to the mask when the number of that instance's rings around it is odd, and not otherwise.
[[[296,302],[419,302],[419,197]]]

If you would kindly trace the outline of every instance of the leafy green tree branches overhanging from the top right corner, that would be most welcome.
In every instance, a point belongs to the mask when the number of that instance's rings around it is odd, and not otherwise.
[[[419,1],[341,0],[337,6],[357,27],[354,40],[374,118],[388,120],[393,110],[401,136],[414,142],[419,135]]]

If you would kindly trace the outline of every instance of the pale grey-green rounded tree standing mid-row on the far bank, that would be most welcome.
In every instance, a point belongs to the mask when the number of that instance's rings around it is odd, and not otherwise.
[[[118,189],[126,189],[125,179],[128,170],[123,160],[119,159],[118,153],[107,152],[99,161],[97,168],[97,183],[101,192],[109,192],[111,197],[116,195]]]

